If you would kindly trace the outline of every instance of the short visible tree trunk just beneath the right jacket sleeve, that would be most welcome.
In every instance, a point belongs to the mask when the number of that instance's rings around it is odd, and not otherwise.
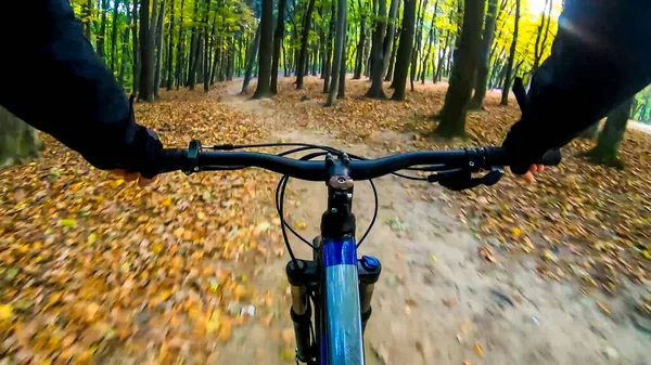
[[[624,132],[626,132],[626,123],[630,115],[630,105],[633,99],[629,99],[617,106],[610,113],[601,133],[597,140],[597,146],[586,153],[586,156],[596,164],[624,168],[624,164],[620,160],[618,152]]]

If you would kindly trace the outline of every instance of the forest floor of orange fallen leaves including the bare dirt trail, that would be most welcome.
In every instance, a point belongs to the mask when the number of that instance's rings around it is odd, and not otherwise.
[[[469,138],[448,142],[429,119],[443,86],[396,103],[348,80],[324,108],[318,78],[299,91],[292,81],[264,101],[239,95],[241,81],[164,92],[137,118],[167,146],[293,141],[376,157],[498,144],[519,115],[489,93]],[[179,172],[139,190],[44,141],[42,159],[0,170],[0,364],[293,364],[278,175]],[[361,246],[383,263],[367,363],[651,364],[651,138],[627,133],[625,170],[576,156],[590,144],[573,142],[534,185],[507,175],[454,193],[379,179]],[[290,183],[286,216],[306,237],[324,193]],[[372,207],[359,183],[359,230]]]

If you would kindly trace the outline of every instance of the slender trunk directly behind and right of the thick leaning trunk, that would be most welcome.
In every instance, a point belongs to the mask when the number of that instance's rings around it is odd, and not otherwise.
[[[477,60],[477,76],[475,79],[475,93],[468,106],[469,109],[481,109],[486,97],[486,83],[488,81],[488,64],[490,62],[489,52],[493,45],[493,36],[495,35],[495,21],[497,17],[497,0],[488,0],[488,12],[486,13],[486,25],[482,43],[480,44]]]

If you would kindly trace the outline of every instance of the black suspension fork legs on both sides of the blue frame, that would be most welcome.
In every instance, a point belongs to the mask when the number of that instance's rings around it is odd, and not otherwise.
[[[362,334],[366,330],[366,325],[371,317],[372,307],[371,298],[375,283],[380,278],[382,264],[380,260],[370,256],[362,256],[357,262],[357,271],[359,277],[359,307],[361,311],[361,329]],[[311,325],[311,307],[308,298],[308,292],[317,292],[321,284],[321,278],[318,272],[318,263],[316,261],[296,260],[288,262],[286,265],[288,279],[291,285],[292,308],[290,315],[294,323],[294,336],[296,339],[296,360],[303,363],[312,364],[316,350],[310,348],[310,325]],[[316,305],[319,301],[317,301]],[[323,309],[320,309],[323,310]],[[318,313],[318,312],[317,312]],[[319,321],[319,318],[315,318]],[[316,334],[320,336],[320,334]],[[317,346],[317,343],[312,343]]]

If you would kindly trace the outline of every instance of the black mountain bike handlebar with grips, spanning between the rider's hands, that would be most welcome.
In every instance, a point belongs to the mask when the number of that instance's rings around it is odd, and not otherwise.
[[[340,156],[341,158],[342,156]],[[347,157],[344,157],[347,158]],[[353,180],[370,180],[414,166],[438,165],[437,170],[463,169],[472,172],[510,166],[510,157],[502,147],[474,147],[449,151],[408,152],[368,160],[349,161]],[[556,166],[561,161],[560,151],[548,152],[540,165]],[[186,173],[258,167],[291,178],[307,181],[329,179],[326,160],[308,161],[255,152],[202,151],[199,141],[189,148],[163,149],[159,172],[181,170]]]

